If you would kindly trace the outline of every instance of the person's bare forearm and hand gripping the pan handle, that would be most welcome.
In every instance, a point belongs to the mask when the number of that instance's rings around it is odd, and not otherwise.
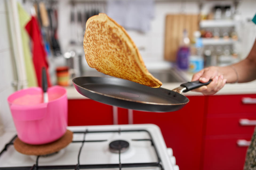
[[[195,91],[202,92],[205,95],[212,95],[219,91],[225,83],[250,82],[256,79],[256,40],[248,54],[248,56],[232,66],[226,67],[207,67],[193,75],[192,81],[200,80],[200,82],[208,82],[210,79],[213,81],[208,86],[202,86]]]

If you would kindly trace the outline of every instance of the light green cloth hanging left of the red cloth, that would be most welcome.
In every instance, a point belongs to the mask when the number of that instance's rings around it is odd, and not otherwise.
[[[19,2],[17,2],[18,6],[18,15],[19,15],[19,25],[21,27],[21,39],[23,46],[23,55],[26,67],[26,75],[27,75],[27,86],[28,87],[36,87],[37,78],[35,75],[35,68],[31,57],[31,51],[29,47],[29,35],[25,29],[25,26],[30,21],[31,16],[24,10]]]

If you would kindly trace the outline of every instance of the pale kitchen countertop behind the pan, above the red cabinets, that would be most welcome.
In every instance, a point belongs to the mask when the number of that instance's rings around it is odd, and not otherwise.
[[[191,79],[191,75],[187,75],[187,78]],[[161,87],[172,90],[179,87],[182,83],[164,83]],[[79,94],[74,86],[66,87],[68,99],[88,99],[85,96]],[[256,80],[249,83],[234,83],[226,84],[217,94],[215,95],[232,95],[232,94],[256,94]],[[189,91],[183,93],[185,96],[202,96],[201,93]]]

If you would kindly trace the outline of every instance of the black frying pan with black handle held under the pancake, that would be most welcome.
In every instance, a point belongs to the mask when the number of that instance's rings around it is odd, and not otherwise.
[[[207,85],[199,81],[187,82],[174,90],[152,88],[115,77],[77,77],[75,89],[92,100],[121,108],[148,111],[173,112],[183,108],[189,99],[182,95],[195,88]]]

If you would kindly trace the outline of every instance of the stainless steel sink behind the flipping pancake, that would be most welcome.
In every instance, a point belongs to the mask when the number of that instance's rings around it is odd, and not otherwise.
[[[167,69],[167,70],[149,70],[149,72],[162,83],[179,83],[186,82],[187,80],[183,78],[180,71],[176,69]],[[92,76],[92,77],[109,77],[98,71],[86,71],[83,76]]]

